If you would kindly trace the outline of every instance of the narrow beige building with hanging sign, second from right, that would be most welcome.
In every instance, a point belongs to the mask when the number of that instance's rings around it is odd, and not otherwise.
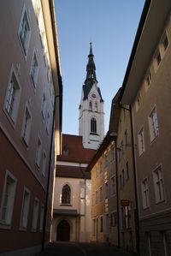
[[[138,205],[133,164],[133,144],[129,105],[120,105],[121,89],[112,101],[109,131],[115,135],[116,177],[118,201],[119,246],[136,252],[138,244]]]

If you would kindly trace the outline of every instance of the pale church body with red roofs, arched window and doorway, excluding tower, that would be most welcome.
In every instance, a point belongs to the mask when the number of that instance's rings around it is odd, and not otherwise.
[[[91,176],[85,172],[95,150],[82,137],[62,134],[62,155],[57,157],[52,241],[91,240]]]

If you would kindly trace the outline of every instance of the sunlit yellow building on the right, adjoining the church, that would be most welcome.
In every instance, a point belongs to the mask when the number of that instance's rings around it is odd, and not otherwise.
[[[87,170],[91,172],[91,241],[117,244],[115,145],[109,133]]]

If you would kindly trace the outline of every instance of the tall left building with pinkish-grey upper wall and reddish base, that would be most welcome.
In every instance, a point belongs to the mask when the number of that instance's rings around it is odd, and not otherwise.
[[[50,239],[62,128],[54,2],[5,1],[0,15],[0,254],[31,255]]]

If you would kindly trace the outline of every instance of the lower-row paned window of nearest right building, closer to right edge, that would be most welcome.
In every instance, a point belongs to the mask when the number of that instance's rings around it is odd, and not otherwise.
[[[153,171],[153,180],[155,187],[156,203],[159,203],[164,200],[164,183],[162,178],[161,166]]]

